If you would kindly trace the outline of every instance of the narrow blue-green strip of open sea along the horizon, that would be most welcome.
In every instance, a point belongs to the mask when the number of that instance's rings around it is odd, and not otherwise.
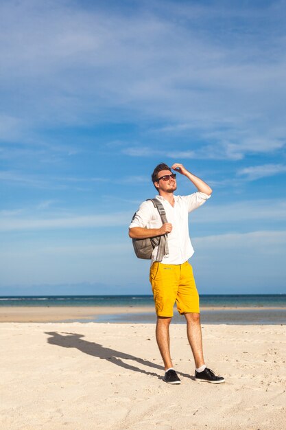
[[[154,306],[152,295],[0,296],[0,306]],[[286,308],[286,294],[200,295],[200,306]]]

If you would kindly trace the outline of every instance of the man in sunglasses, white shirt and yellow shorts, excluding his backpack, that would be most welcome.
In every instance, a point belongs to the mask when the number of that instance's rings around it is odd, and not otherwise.
[[[187,177],[198,192],[188,196],[175,196],[176,173],[171,170],[176,170]],[[162,225],[160,214],[152,201],[144,201],[129,226],[129,236],[132,239],[143,239],[167,234],[169,254],[162,262],[156,261],[157,247],[155,247],[150,269],[150,282],[157,314],[156,340],[165,365],[164,380],[169,384],[180,384],[180,378],[171,362],[169,338],[169,324],[176,302],[178,312],[184,315],[187,321],[187,337],[195,360],[195,380],[223,383],[224,378],[216,376],[204,363],[199,295],[193,278],[193,269],[187,261],[193,255],[188,214],[209,199],[212,190],[180,163],[174,163],[171,168],[165,163],[158,164],[152,174],[152,182],[158,191],[156,199],[162,203],[168,222]]]

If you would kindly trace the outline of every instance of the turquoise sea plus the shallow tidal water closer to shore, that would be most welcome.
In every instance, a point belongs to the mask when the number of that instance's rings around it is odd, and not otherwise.
[[[1,296],[4,306],[154,306],[152,295],[65,295],[65,296]],[[261,295],[200,295],[200,306],[212,307],[201,311],[202,324],[286,324],[286,294]],[[230,310],[229,308],[237,308]],[[244,309],[239,309],[243,307]],[[216,309],[217,308],[217,309]],[[269,309],[271,308],[271,309]],[[132,313],[76,319],[86,322],[154,323],[152,313]],[[173,322],[184,323],[184,317],[174,309]]]

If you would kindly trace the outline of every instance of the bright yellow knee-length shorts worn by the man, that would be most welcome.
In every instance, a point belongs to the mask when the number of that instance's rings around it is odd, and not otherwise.
[[[158,317],[173,317],[176,302],[180,315],[200,313],[200,300],[193,269],[184,264],[154,262],[150,268],[150,282]]]

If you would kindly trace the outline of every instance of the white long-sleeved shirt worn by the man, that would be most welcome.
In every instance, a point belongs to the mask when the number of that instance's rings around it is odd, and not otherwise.
[[[191,258],[194,250],[189,237],[188,215],[210,197],[204,192],[194,192],[189,196],[174,196],[173,207],[164,197],[156,196],[165,208],[168,223],[172,225],[171,233],[168,234],[169,256],[163,258],[163,264],[183,264]],[[161,226],[160,214],[152,201],[143,201],[129,228],[159,229]],[[152,262],[156,260],[157,248],[152,253]]]

